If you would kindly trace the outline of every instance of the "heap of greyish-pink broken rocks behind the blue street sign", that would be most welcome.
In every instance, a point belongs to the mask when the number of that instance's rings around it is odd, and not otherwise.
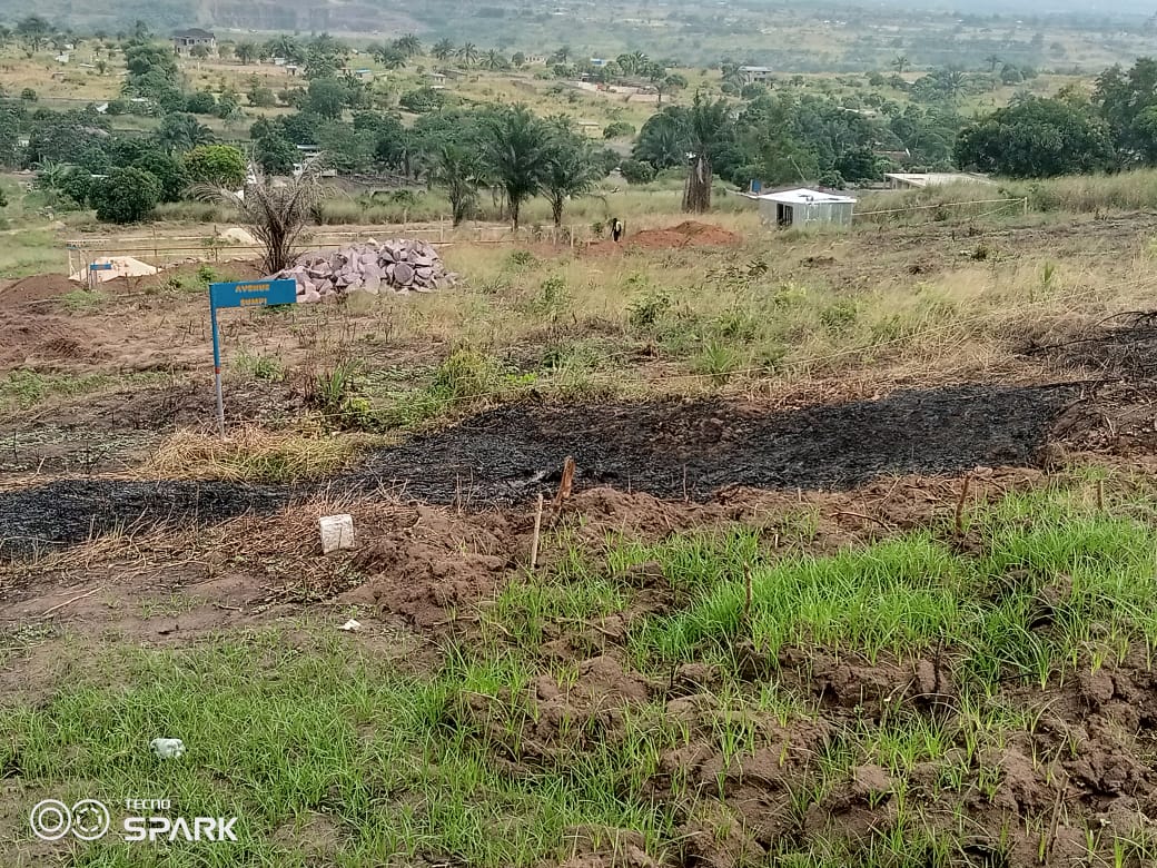
[[[395,238],[302,253],[294,265],[271,279],[296,280],[297,301],[309,303],[340,299],[354,290],[370,295],[433,293],[454,286],[457,277],[447,271],[437,251],[425,241]]]

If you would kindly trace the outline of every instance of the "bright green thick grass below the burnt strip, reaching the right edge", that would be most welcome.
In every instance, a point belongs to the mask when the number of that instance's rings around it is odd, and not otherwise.
[[[725,656],[749,639],[773,656],[818,645],[875,661],[946,645],[980,683],[1011,675],[1044,686],[1157,641],[1149,517],[1099,513],[1073,492],[1047,491],[973,516],[979,554],[961,551],[946,528],[824,558],[769,560],[750,531],[635,547],[631,560],[664,564],[692,594],[683,610],[649,621],[638,647],[654,661],[692,660]]]

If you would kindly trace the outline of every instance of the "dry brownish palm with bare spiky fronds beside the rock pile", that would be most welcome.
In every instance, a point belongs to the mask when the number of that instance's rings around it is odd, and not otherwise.
[[[220,186],[202,186],[198,192],[201,198],[224,201],[241,212],[241,222],[265,248],[261,270],[275,274],[293,265],[294,245],[316,206],[327,196],[322,184],[323,164],[317,159],[301,175],[278,179],[255,165],[239,193]]]

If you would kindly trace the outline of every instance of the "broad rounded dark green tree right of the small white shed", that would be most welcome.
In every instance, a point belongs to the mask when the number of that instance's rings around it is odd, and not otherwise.
[[[965,127],[955,155],[963,168],[1012,178],[1100,171],[1115,160],[1103,120],[1069,103],[1034,97]]]

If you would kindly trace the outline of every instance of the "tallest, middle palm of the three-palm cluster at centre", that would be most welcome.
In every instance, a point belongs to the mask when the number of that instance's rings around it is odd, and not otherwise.
[[[506,192],[510,222],[518,230],[522,203],[543,189],[550,131],[525,105],[513,105],[488,118],[482,154],[498,185]]]

